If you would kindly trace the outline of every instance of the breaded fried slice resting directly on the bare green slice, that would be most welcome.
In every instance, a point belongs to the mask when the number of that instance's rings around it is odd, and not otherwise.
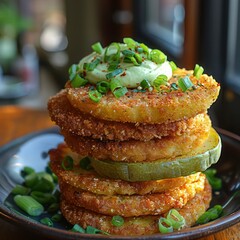
[[[163,137],[150,141],[101,141],[71,134],[65,130],[62,134],[67,145],[77,153],[99,160],[124,162],[155,161],[159,159],[174,159],[189,153],[201,146],[207,139],[211,121],[206,117],[190,133],[177,137]]]

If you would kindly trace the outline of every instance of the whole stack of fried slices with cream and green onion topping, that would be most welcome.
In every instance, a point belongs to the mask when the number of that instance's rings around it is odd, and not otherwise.
[[[211,201],[201,172],[221,154],[207,114],[219,84],[131,38],[92,49],[48,102],[65,139],[50,151],[63,215],[125,236],[194,225]]]

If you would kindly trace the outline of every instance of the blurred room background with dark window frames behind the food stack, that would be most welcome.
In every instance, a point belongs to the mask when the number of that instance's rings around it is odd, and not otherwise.
[[[222,86],[214,125],[240,134],[238,0],[0,0],[0,106],[46,109],[93,43],[123,37],[202,65]]]

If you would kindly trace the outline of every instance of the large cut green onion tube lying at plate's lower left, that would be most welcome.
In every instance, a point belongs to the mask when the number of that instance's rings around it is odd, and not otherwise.
[[[31,196],[16,195],[13,200],[19,208],[30,216],[39,216],[44,211],[43,205]]]

